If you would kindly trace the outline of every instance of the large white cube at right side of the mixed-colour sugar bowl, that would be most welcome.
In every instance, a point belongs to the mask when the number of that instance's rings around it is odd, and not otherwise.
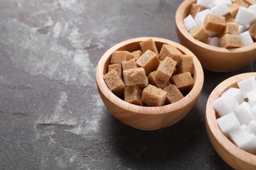
[[[255,19],[255,13],[252,10],[245,9],[244,7],[240,7],[238,10],[238,14],[236,14],[235,22],[238,22],[242,25],[251,25],[251,22]]]

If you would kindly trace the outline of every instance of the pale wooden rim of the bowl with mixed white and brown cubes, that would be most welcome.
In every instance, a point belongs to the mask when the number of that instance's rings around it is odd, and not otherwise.
[[[211,46],[209,44],[206,44],[204,42],[198,41],[197,39],[194,39],[194,37],[186,30],[186,27],[183,23],[183,16],[184,16],[184,9],[187,9],[192,5],[192,3],[196,3],[196,0],[184,0],[181,5],[179,5],[176,14],[175,14],[175,22],[177,25],[177,29],[181,31],[182,35],[186,37],[189,41],[193,42],[194,44],[197,44],[201,48],[207,48],[209,50],[215,51],[215,52],[223,52],[223,53],[241,53],[241,52],[247,52],[250,50],[253,50],[256,48],[256,42],[253,44],[250,44],[248,46],[242,46],[240,48],[222,48],[218,46]]]

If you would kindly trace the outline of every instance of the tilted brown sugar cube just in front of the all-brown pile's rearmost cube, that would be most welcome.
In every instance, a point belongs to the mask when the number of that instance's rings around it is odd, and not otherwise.
[[[156,53],[151,50],[147,50],[139,59],[137,59],[136,63],[139,67],[143,67],[145,69],[146,75],[149,75],[152,71],[158,69],[160,60]]]

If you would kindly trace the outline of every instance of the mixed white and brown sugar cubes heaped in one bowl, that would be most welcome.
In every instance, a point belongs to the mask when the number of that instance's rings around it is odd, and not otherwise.
[[[248,46],[256,41],[256,0],[197,0],[183,22],[195,39],[212,46]]]

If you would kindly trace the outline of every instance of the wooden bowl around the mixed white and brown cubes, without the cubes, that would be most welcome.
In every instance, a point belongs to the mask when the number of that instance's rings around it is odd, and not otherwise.
[[[198,41],[186,31],[183,20],[188,16],[192,3],[185,0],[177,9],[175,21],[179,41],[200,60],[204,69],[216,72],[235,71],[256,59],[256,43],[241,48],[221,48]]]

